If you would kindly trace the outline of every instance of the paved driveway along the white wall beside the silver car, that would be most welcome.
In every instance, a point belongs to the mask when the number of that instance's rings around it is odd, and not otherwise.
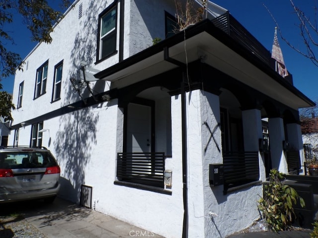
[[[49,205],[26,209],[23,216],[47,238],[162,238],[61,198]]]

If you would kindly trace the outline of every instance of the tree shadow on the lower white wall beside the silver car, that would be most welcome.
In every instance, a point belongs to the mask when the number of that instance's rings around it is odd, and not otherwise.
[[[96,145],[98,115],[81,109],[60,119],[54,143],[61,166],[60,195],[79,202],[81,184],[85,184],[85,168]]]

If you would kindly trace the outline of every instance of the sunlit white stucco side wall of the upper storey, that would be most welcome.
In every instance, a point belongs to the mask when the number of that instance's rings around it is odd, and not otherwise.
[[[78,7],[83,5],[83,15],[79,19]],[[79,80],[79,68],[81,62],[88,67],[98,70],[105,69],[118,62],[118,54],[95,64],[97,48],[98,15],[112,2],[102,1],[79,1],[69,10],[62,21],[54,28],[51,34],[51,44],[41,43],[32,51],[32,54],[25,58],[23,71],[16,71],[13,103],[17,104],[19,85],[24,81],[22,107],[13,111],[13,125],[22,121],[36,118],[48,112],[59,109],[62,106],[80,100],[78,93],[73,89],[70,78]],[[120,4],[118,5],[118,12]],[[119,36],[119,14],[117,35]],[[117,37],[117,51],[119,49],[119,37]],[[48,60],[48,74],[46,93],[34,99],[36,82],[36,70]],[[63,60],[61,100],[51,103],[54,67]],[[90,83],[94,93],[104,92],[109,89],[105,81]],[[83,98],[89,97],[87,89],[80,90]]]

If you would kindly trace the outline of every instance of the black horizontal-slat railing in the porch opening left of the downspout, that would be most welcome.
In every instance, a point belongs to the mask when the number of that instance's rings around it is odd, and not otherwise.
[[[163,187],[164,152],[117,153],[117,179]]]

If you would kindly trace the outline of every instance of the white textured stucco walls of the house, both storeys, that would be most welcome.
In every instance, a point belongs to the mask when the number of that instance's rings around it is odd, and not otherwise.
[[[166,6],[164,6],[164,4]],[[83,17],[78,19],[78,4],[83,4]],[[79,101],[73,92],[70,77],[78,76],[81,61],[88,66],[104,69],[118,62],[118,55],[98,64],[96,60],[97,19],[112,1],[81,0],[72,8],[52,33],[50,45],[40,44],[25,60],[28,69],[17,71],[13,100],[17,103],[19,84],[24,80],[22,107],[12,113],[14,123],[34,119],[62,106]],[[156,11],[150,10],[155,8]],[[164,9],[174,12],[174,1],[126,0],[124,29],[124,58],[152,45],[152,39],[164,39]],[[118,9],[118,12],[120,9]],[[132,12],[130,15],[129,13]],[[131,22],[128,22],[131,21]],[[117,28],[119,31],[119,27]],[[119,38],[117,38],[117,42]],[[129,43],[128,43],[129,42]],[[118,44],[117,44],[118,47]],[[49,60],[46,94],[33,100],[36,69]],[[51,103],[54,66],[64,60],[61,100]],[[107,83],[96,83],[97,91],[107,91]],[[94,83],[92,83],[93,87]],[[88,96],[88,94],[84,94]],[[114,185],[116,179],[116,152],[122,149],[123,114],[117,100],[80,109],[43,122],[43,146],[56,156],[61,166],[61,195],[79,202],[81,184],[93,187],[93,208],[112,215],[167,238],[179,238],[182,234],[182,128],[181,98],[171,97],[171,153],[165,168],[172,170],[172,195]],[[166,102],[165,102],[166,103]],[[163,107],[158,108],[159,112]],[[211,189],[208,164],[220,163],[220,151],[210,142],[209,132],[203,126],[207,121],[213,130],[220,120],[218,97],[195,90],[187,93],[187,143],[188,148],[188,198],[189,234],[191,237],[224,237],[246,226],[256,217],[254,210],[260,186],[224,196],[221,187]],[[164,127],[168,121],[162,121]],[[19,144],[30,143],[31,125],[19,129]],[[10,141],[13,143],[13,135]],[[166,136],[159,134],[161,138]],[[214,136],[221,149],[221,132]],[[162,145],[162,148],[168,145]],[[248,199],[246,199],[248,197]],[[252,211],[251,211],[252,210]],[[209,212],[218,217],[213,220]],[[251,223],[251,222],[250,222]],[[234,224],[234,225],[233,225]],[[210,236],[211,235],[211,236]]]

